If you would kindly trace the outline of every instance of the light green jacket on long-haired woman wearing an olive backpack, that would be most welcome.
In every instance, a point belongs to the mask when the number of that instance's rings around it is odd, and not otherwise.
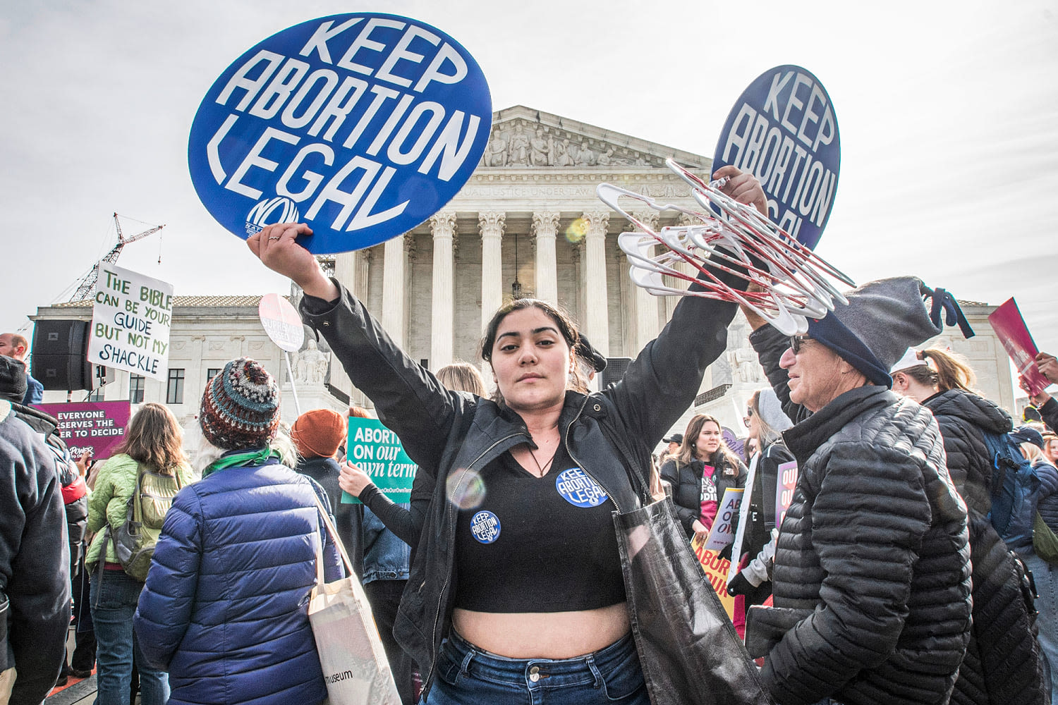
[[[99,475],[95,479],[95,489],[88,498],[88,533],[94,534],[88,555],[85,557],[85,565],[89,573],[94,572],[96,568],[95,564],[104,551],[104,541],[107,544],[104,560],[117,562],[110,533],[103,530],[108,523],[116,528],[125,522],[129,497],[135,491],[138,468],[139,463],[124,453],[109,459],[99,468]],[[187,463],[177,466],[177,476],[180,478],[181,487],[195,481],[194,471]]]

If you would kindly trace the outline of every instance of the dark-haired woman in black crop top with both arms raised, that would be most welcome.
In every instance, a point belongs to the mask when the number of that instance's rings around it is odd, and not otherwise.
[[[763,201],[752,175],[718,175],[735,198]],[[270,225],[248,244],[302,286],[303,319],[419,465],[419,540],[394,634],[421,668],[424,701],[546,689],[553,702],[645,705],[610,515],[638,506],[633,480],[649,481],[651,450],[724,352],[734,304],[685,298],[620,382],[584,394],[571,378],[577,328],[544,301],[514,300],[481,342],[496,384],[486,400],[448,390],[397,347],[295,242],[308,235]]]

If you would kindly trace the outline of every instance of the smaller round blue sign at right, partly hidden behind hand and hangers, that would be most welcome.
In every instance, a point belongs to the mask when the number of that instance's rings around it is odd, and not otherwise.
[[[761,74],[728,114],[713,170],[752,171],[768,197],[768,218],[815,247],[834,206],[841,168],[838,118],[810,72],[782,66]]]

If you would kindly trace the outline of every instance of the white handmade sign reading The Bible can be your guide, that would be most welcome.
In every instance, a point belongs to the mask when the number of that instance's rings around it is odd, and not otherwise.
[[[165,381],[172,284],[103,262],[94,300],[88,361]]]

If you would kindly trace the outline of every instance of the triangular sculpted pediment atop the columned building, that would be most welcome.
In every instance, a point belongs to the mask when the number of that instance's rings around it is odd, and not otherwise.
[[[492,115],[487,169],[657,169],[673,157],[692,168],[711,160],[525,106]]]

